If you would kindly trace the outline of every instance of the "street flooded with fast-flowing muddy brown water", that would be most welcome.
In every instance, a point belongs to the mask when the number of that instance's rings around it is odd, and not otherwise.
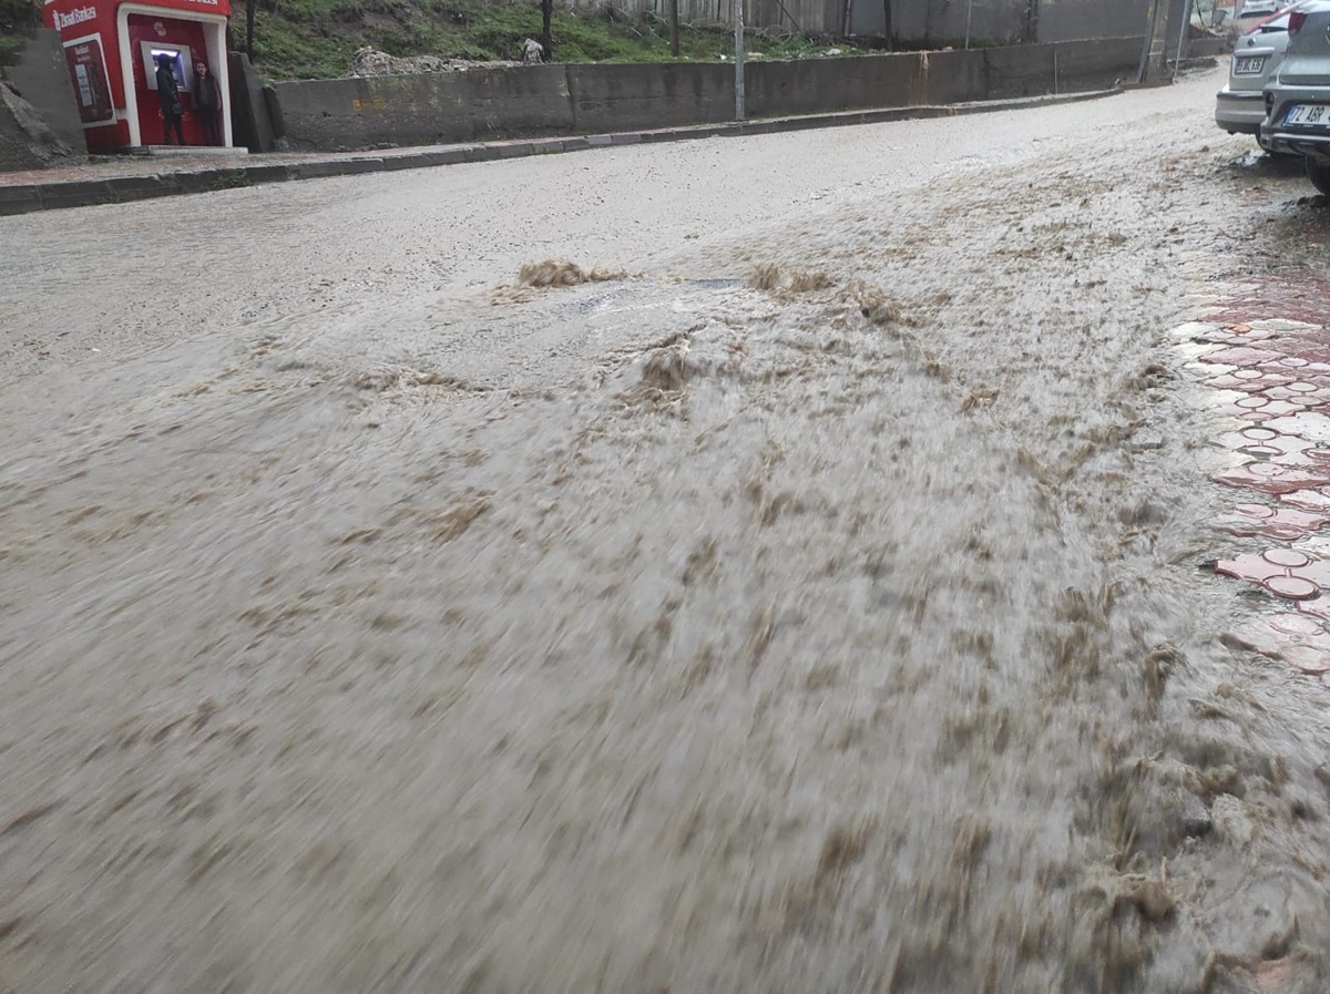
[[[1325,991],[1222,78],[0,219],[0,991]]]

